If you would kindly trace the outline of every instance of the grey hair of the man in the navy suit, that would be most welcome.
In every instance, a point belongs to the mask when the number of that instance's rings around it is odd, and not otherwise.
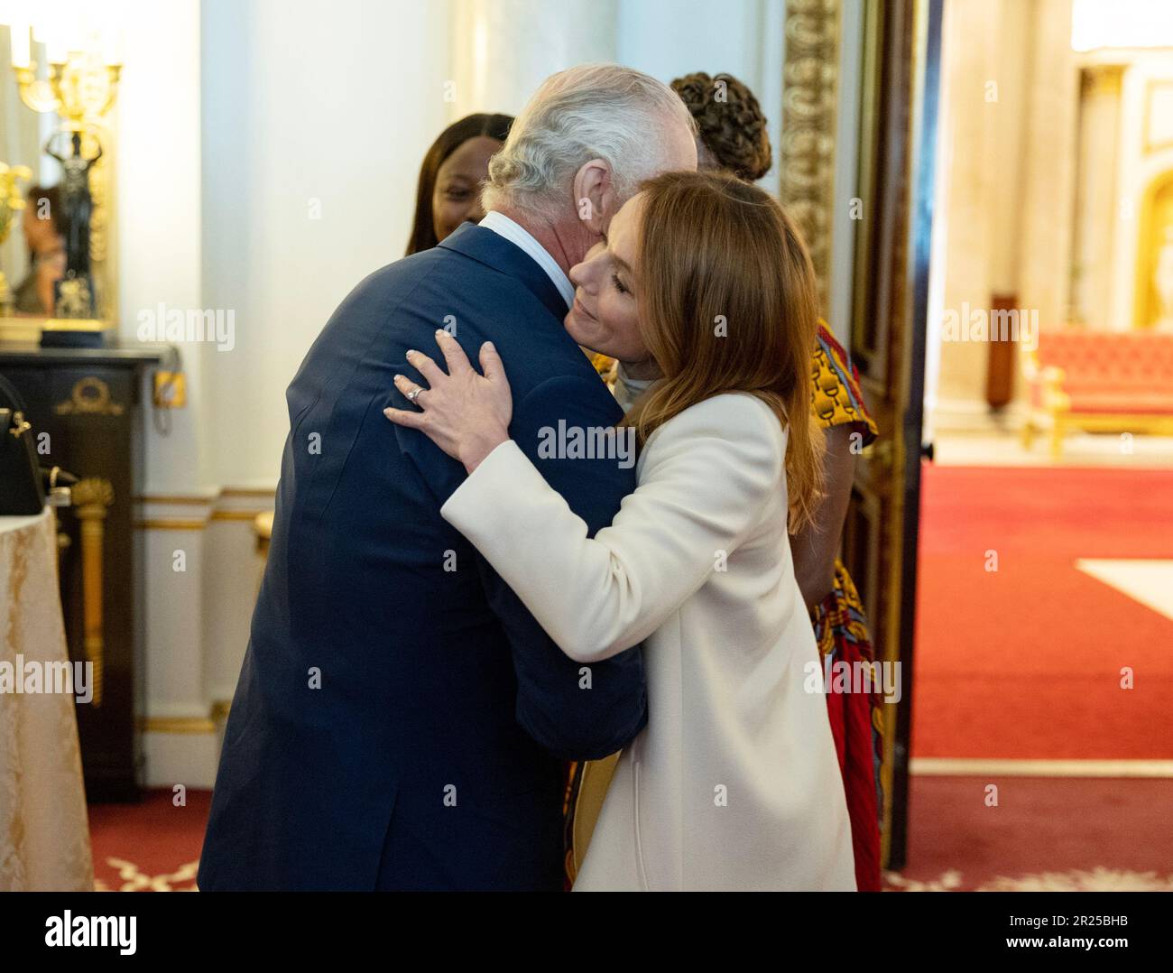
[[[552,74],[489,161],[482,205],[561,218],[575,205],[575,173],[592,158],[611,167],[616,196],[624,202],[666,168],[664,131],[673,120],[696,136],[696,121],[680,96],[635,68],[579,65]]]

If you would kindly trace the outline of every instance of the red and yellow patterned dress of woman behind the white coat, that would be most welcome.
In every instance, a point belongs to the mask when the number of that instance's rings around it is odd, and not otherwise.
[[[879,435],[860,390],[860,374],[842,345],[825,324],[812,359],[814,391],[811,407],[823,428],[853,425],[867,446]],[[811,613],[825,671],[840,663],[853,673],[855,663],[870,664],[875,651],[868,636],[863,604],[843,562],[835,561],[830,594]],[[828,681],[834,684],[832,680]],[[847,811],[852,819],[855,884],[861,892],[880,891],[880,761],[883,754],[883,709],[877,692],[828,692],[827,711],[843,775]]]

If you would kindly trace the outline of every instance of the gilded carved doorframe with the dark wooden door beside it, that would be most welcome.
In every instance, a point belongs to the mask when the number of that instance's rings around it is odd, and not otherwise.
[[[925,93],[927,85],[936,85],[933,38],[940,36],[941,11],[942,0],[863,0],[857,7],[842,0],[788,0],[782,66],[779,195],[806,236],[826,308],[842,18],[847,12],[863,18],[861,89],[853,106],[859,164],[855,185],[841,195],[861,197],[863,209],[854,265],[846,275],[852,281],[850,344],[881,440],[856,464],[853,507],[870,525],[870,539],[859,539],[862,562],[849,567],[867,575],[875,602],[866,608],[876,660],[900,667],[901,702],[886,704],[883,712],[880,809],[882,861],[896,869],[903,865],[907,842],[925,241],[931,225],[931,200],[924,195],[931,190],[931,167],[925,169],[931,146],[920,136],[935,119],[935,97],[930,103]]]

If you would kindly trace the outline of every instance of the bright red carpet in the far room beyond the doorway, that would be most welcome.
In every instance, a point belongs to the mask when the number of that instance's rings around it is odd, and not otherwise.
[[[924,467],[914,757],[1173,758],[1173,621],[1079,558],[1173,558],[1173,471]]]

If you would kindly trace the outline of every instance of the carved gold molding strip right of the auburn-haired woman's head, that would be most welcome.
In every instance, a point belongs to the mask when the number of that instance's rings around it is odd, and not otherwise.
[[[779,196],[806,237],[826,308],[835,187],[840,0],[789,0]]]

